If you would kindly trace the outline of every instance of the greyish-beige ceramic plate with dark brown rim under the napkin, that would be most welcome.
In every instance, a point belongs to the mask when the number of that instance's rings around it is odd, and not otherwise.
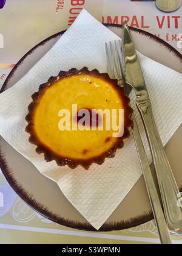
[[[122,35],[121,26],[106,26],[116,34]],[[52,48],[62,34],[64,34],[64,31],[45,39],[27,52],[5,80],[1,92],[12,87],[21,79]],[[132,29],[132,36],[138,51],[182,73],[182,55],[172,46],[143,30]],[[32,163],[16,152],[1,137],[0,146],[2,172],[11,187],[30,207],[46,218],[64,226],[95,231],[89,222],[64,197],[56,183],[42,176]],[[178,186],[181,188],[182,126],[167,143],[165,149]],[[152,210],[147,198],[144,179],[141,177],[99,231],[127,229],[151,219],[153,219]]]

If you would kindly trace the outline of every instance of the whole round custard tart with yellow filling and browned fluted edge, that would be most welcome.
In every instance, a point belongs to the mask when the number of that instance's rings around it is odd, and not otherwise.
[[[58,165],[71,168],[82,165],[87,169],[93,162],[103,163],[105,157],[113,156],[116,148],[123,146],[123,138],[128,136],[127,127],[132,124],[130,119],[124,119],[127,115],[129,118],[131,109],[123,88],[118,87],[115,80],[96,70],[73,70],[73,73],[69,71],[53,77],[32,96],[26,130],[30,133],[30,142],[38,146],[38,153],[44,153],[45,160],[56,160]],[[127,123],[122,124],[125,126],[123,138],[113,137],[116,130],[112,126],[110,130],[106,129],[105,115],[101,118],[96,112],[107,110],[112,113],[113,109],[116,120],[121,115],[119,110],[128,112],[122,120]],[[89,119],[80,130],[78,124],[84,117],[80,114],[82,110],[86,110]]]

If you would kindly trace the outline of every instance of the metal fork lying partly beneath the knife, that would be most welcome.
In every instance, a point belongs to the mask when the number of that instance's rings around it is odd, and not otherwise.
[[[106,55],[107,55],[107,66],[110,78],[117,79],[118,85],[123,86],[129,95],[132,88],[127,85],[124,79],[123,72],[123,54],[122,54],[122,43],[121,40],[110,41],[106,43]],[[141,140],[138,125],[136,123],[135,115],[132,116],[133,120],[133,137],[138,151],[138,157],[140,158],[141,169],[143,170],[144,180],[146,182],[147,193],[150,199],[150,205],[152,207],[155,223],[158,229],[160,240],[162,244],[172,244],[170,238],[169,229],[164,218],[164,213],[161,208],[160,199],[158,197],[157,189],[153,181],[152,172],[150,170],[147,155],[144,150],[143,142]]]

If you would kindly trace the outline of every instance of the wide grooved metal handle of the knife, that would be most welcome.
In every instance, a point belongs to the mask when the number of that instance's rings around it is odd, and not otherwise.
[[[178,190],[174,174],[170,168],[169,161],[167,160],[167,156],[164,151],[163,143],[153,118],[152,106],[150,102],[145,102],[145,104],[138,102],[136,105],[143,119],[144,127],[149,140],[166,221],[170,227],[180,229],[182,227],[181,194]]]

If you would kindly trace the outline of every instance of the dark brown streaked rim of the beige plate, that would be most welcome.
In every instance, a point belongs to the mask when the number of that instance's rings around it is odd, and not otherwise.
[[[123,26],[120,24],[104,24],[106,27],[119,27],[122,28]],[[169,49],[172,54],[175,55],[178,59],[180,59],[182,63],[182,55],[180,52],[177,51],[177,49],[173,48],[169,43],[166,41],[163,41],[161,38],[158,38],[157,36],[150,34],[149,32],[146,32],[141,29],[136,29],[135,27],[130,27],[131,30],[138,32],[138,34],[146,35],[146,37],[151,38],[152,40],[156,41],[159,44],[163,44],[167,49]],[[56,34],[51,35],[50,37],[45,38],[40,43],[36,44],[30,51],[28,51],[26,54],[22,56],[22,58],[16,63],[15,67],[10,71],[7,78],[5,79],[4,84],[1,87],[0,93],[5,91],[8,81],[13,77],[13,74],[15,73],[16,69],[19,65],[26,59],[27,56],[33,53],[35,49],[37,49],[39,46],[42,46],[42,44],[47,43],[47,41],[51,40],[52,38],[56,38],[59,35],[64,34],[66,30],[62,30],[61,32],[58,32]],[[72,221],[70,219],[62,218],[59,215],[55,215],[54,213],[50,212],[49,209],[45,205],[41,205],[39,202],[34,199],[28,191],[25,190],[21,185],[19,185],[18,180],[15,180],[15,178],[12,175],[12,172],[10,171],[10,168],[8,167],[8,163],[6,162],[3,152],[1,151],[0,147],[0,167],[2,170],[2,173],[5,176],[5,179],[9,183],[10,187],[13,188],[16,194],[18,194],[19,197],[27,204],[30,208],[38,212],[40,215],[44,216],[47,219],[50,219],[50,221],[56,222],[60,225],[67,226],[73,229],[79,229],[79,230],[86,230],[86,231],[95,231],[95,232],[109,232],[113,230],[123,230],[123,229],[129,229],[132,227],[136,227],[138,225],[144,224],[148,221],[151,221],[153,219],[153,213],[148,212],[145,213],[145,215],[136,216],[135,218],[129,219],[129,221],[120,221],[120,222],[109,222],[104,223],[103,226],[99,230],[96,230],[89,222],[76,222]]]

